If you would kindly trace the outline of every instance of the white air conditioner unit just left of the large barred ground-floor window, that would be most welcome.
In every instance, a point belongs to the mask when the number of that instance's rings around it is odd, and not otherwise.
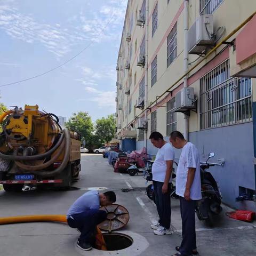
[[[175,95],[175,111],[186,111],[195,108],[195,95],[193,87],[186,87]]]

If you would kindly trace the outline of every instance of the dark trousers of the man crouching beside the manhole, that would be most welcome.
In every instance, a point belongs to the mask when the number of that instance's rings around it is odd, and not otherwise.
[[[79,237],[79,242],[93,243],[95,238],[94,234],[96,227],[99,223],[106,220],[107,213],[100,210],[89,210],[86,212],[73,214],[72,218],[68,218],[68,226],[71,228],[77,228],[81,235]]]

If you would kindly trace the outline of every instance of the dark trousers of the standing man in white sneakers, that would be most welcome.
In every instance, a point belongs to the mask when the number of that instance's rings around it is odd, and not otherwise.
[[[168,191],[163,194],[162,187],[164,182],[153,181],[154,194],[156,200],[157,212],[159,215],[159,224],[169,229],[171,225],[171,184],[168,185]]]

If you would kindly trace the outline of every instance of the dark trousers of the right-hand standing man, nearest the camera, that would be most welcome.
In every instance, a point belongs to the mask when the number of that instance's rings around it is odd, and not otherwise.
[[[186,201],[180,197],[180,214],[182,219],[182,242],[180,253],[182,256],[192,254],[196,249],[196,220],[195,220],[195,200]]]

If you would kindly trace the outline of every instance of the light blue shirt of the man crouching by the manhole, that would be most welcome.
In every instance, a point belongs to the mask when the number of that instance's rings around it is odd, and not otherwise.
[[[100,196],[97,190],[91,190],[84,193],[81,197],[77,198],[75,203],[70,206],[67,218],[70,215],[86,212],[91,209],[100,208]]]

